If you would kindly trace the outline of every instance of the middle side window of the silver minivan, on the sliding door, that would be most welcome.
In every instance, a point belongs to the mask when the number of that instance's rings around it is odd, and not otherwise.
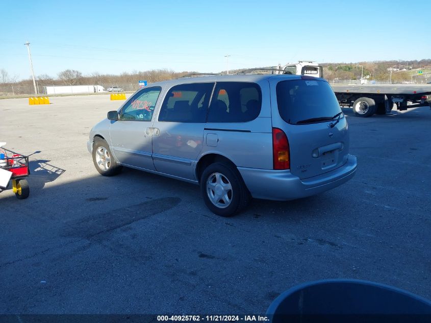
[[[159,121],[205,123],[214,83],[173,86],[160,108]]]

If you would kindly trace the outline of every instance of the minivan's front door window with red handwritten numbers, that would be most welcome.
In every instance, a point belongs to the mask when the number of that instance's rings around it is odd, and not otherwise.
[[[119,113],[120,120],[151,121],[161,87],[150,87],[136,93]]]

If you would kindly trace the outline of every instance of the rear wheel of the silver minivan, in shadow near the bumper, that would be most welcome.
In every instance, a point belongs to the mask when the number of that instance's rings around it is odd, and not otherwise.
[[[251,199],[238,170],[227,163],[211,164],[202,172],[200,191],[208,209],[223,217],[239,213]]]

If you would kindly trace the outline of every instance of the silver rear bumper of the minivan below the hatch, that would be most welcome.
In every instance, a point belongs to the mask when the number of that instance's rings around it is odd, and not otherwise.
[[[346,163],[322,175],[299,179],[290,170],[238,167],[245,185],[255,198],[288,201],[312,196],[350,180],[357,168],[357,158],[348,155]]]

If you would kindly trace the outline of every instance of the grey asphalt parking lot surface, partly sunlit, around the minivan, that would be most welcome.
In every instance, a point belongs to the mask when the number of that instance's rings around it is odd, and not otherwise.
[[[351,181],[222,218],[196,185],[97,173],[88,133],[121,102],[50,102],[0,100],[0,141],[36,152],[30,197],[0,193],[0,313],[264,313],[281,292],[326,278],[431,299],[429,108],[371,118],[343,109],[358,157]]]

